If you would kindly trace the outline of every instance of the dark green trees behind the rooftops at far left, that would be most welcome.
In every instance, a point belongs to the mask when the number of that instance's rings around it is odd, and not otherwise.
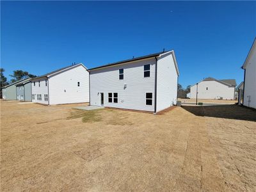
[[[36,76],[33,74],[29,74],[29,72],[23,71],[23,70],[13,70],[13,74],[10,75],[12,79],[10,81],[7,81],[7,78],[4,76],[4,68],[0,68],[0,97],[2,99],[2,88],[10,83],[14,83],[15,81],[19,81],[21,79],[24,79],[26,77],[35,78]]]

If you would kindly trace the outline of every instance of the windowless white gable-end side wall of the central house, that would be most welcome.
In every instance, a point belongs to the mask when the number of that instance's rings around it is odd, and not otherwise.
[[[177,103],[178,74],[172,53],[157,61],[157,112]]]

